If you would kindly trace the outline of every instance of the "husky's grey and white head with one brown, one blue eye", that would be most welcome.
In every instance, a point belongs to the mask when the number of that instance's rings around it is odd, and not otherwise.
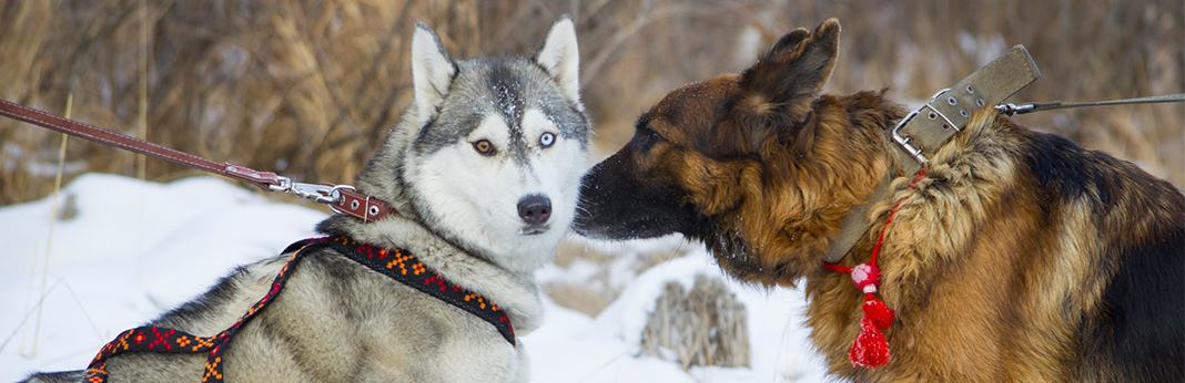
[[[415,99],[359,189],[506,268],[546,262],[588,168],[576,32],[564,17],[531,58],[454,60],[416,25]]]

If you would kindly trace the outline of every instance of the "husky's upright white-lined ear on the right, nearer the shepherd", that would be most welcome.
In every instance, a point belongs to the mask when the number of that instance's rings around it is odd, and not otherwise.
[[[556,79],[564,96],[576,102],[578,108],[584,108],[581,105],[581,52],[571,18],[565,14],[551,25],[534,61]]]

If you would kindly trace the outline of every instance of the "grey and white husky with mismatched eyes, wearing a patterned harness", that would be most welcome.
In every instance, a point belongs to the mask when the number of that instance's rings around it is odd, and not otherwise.
[[[418,24],[415,98],[357,177],[395,210],[334,215],[318,231],[401,248],[500,306],[519,335],[540,324],[533,272],[551,260],[576,208],[589,119],[579,100],[572,21],[552,25],[532,58],[454,60]],[[207,337],[268,293],[281,255],[233,271],[150,324]],[[521,344],[489,323],[326,248],[303,255],[286,287],[229,343],[235,382],[525,382]],[[111,382],[193,382],[206,355],[108,359]],[[82,371],[30,382],[79,382]]]

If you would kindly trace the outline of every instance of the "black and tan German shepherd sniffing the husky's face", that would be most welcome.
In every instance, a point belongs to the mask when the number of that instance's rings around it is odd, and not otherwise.
[[[819,95],[834,19],[782,37],[757,64],[674,90],[633,139],[584,176],[578,233],[681,233],[762,286],[806,280],[807,325],[832,375],[857,382],[1185,382],[1185,197],[1168,182],[992,105],[896,170],[886,135],[905,116],[885,90]],[[879,252],[896,310],[892,357],[848,362],[864,294],[828,271],[841,221],[893,176],[892,197],[839,262]]]

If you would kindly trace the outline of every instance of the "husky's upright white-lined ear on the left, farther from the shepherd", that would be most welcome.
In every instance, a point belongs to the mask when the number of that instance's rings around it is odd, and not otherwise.
[[[416,86],[415,104],[421,118],[428,118],[444,98],[456,64],[444,51],[441,38],[427,24],[417,22],[411,37],[411,78]]]

